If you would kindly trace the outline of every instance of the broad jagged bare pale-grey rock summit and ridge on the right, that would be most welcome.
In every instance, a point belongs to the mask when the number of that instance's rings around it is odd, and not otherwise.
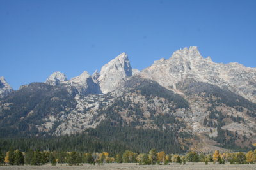
[[[155,61],[140,74],[175,92],[180,92],[182,82],[193,78],[228,89],[256,102],[255,68],[244,67],[238,63],[214,63],[210,57],[203,58],[195,46],[177,50],[168,60]],[[180,87],[177,87],[178,83]]]

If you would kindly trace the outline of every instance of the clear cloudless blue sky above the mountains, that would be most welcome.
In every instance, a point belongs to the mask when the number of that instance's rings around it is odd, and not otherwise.
[[[186,46],[256,67],[256,1],[0,1],[0,76],[14,89],[92,74],[122,52],[141,70]]]

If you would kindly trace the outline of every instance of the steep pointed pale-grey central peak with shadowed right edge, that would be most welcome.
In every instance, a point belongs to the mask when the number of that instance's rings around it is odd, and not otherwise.
[[[115,90],[116,85],[128,76],[132,76],[132,67],[127,54],[121,53],[102,67],[97,80],[102,92],[108,93]]]

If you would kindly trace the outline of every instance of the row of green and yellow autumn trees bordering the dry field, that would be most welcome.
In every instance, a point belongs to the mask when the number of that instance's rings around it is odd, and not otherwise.
[[[57,163],[67,163],[70,165],[78,165],[81,163],[102,164],[105,163],[138,163],[138,164],[168,164],[170,162],[186,164],[186,162],[213,162],[214,164],[253,164],[256,162],[256,150],[236,153],[220,153],[216,150],[212,155],[197,153],[195,150],[190,150],[184,155],[166,154],[165,152],[157,152],[156,149],[151,149],[148,153],[135,153],[131,150],[126,150],[124,153],[118,153],[112,157],[108,152],[102,153],[82,153],[82,152],[50,152],[31,150],[21,152],[10,148],[8,152],[3,153],[0,150],[0,164],[10,165],[43,165],[51,162],[54,166]]]

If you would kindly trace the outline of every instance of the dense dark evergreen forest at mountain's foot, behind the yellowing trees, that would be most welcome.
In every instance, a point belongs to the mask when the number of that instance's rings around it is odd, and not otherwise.
[[[109,113],[111,114],[111,113]],[[163,143],[164,145],[159,145]],[[102,122],[96,128],[86,129],[79,134],[64,136],[32,136],[0,138],[0,148],[4,152],[9,148],[26,151],[79,151],[79,152],[109,152],[112,154],[133,150],[145,153],[151,148],[164,150],[167,153],[184,153],[177,136],[171,130],[159,131],[157,129],[136,129],[135,127],[121,126],[118,123]]]

